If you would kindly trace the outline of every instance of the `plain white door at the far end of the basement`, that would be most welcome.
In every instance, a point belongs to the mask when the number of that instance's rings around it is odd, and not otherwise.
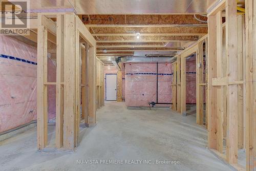
[[[116,74],[106,74],[106,100],[116,100]]]

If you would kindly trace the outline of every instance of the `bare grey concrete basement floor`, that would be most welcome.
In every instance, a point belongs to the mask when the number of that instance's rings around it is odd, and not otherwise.
[[[230,170],[207,149],[195,115],[169,110],[127,110],[106,102],[97,125],[83,129],[75,152],[36,149],[36,128],[0,142],[0,170]],[[178,160],[180,164],[77,164],[77,160]]]

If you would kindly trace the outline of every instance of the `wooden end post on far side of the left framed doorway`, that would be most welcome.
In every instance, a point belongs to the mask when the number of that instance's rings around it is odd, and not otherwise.
[[[93,47],[89,48],[88,62],[88,85],[89,85],[89,127],[96,124],[96,42]]]

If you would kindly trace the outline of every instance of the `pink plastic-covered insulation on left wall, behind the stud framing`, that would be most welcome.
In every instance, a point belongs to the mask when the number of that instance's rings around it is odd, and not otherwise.
[[[0,132],[36,120],[37,49],[0,36]],[[55,66],[48,61],[49,73]],[[51,74],[49,74],[51,77]],[[49,88],[49,118],[55,117],[55,91]]]

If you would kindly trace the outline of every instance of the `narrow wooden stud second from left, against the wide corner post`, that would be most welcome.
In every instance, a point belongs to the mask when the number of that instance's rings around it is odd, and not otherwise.
[[[64,113],[64,16],[57,15],[57,72],[56,72],[56,147],[63,145],[63,113]]]

